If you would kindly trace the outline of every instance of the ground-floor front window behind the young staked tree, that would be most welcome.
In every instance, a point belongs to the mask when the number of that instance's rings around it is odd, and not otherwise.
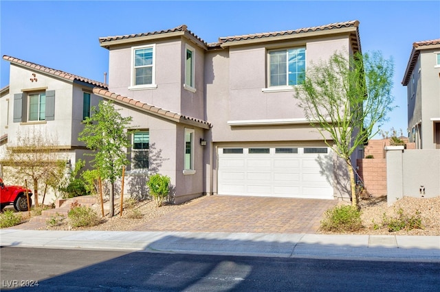
[[[131,169],[148,169],[148,149],[150,148],[150,132],[140,131],[133,134],[131,149]]]

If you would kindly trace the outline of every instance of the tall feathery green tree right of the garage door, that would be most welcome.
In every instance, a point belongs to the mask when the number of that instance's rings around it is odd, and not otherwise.
[[[393,60],[380,52],[346,56],[337,51],[327,62],[312,64],[296,98],[327,146],[346,162],[351,202],[358,207],[351,155],[377,134],[393,110]]]

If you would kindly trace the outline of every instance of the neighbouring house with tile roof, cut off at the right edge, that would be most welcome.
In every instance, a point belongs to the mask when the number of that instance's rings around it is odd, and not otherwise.
[[[440,149],[440,39],[414,42],[404,79],[408,137],[417,149]]]

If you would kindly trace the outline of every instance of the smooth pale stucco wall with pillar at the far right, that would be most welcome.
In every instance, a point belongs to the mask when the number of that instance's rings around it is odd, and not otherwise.
[[[440,195],[440,149],[386,147],[388,205],[404,196]]]

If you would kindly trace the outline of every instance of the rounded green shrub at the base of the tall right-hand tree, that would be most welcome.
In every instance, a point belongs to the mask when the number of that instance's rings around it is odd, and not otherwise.
[[[321,221],[321,229],[325,231],[351,232],[361,228],[360,211],[351,205],[327,210]]]

